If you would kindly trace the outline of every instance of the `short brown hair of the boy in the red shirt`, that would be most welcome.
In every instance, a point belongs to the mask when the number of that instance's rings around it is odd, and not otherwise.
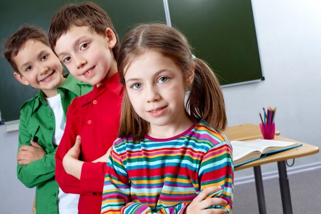
[[[118,35],[110,17],[101,7],[92,2],[68,4],[61,7],[52,17],[49,27],[48,36],[52,50],[54,50],[58,38],[67,33],[72,26],[88,26],[91,30],[101,35],[106,34],[106,28],[114,31],[117,42],[113,48],[113,54],[117,60],[119,49]]]

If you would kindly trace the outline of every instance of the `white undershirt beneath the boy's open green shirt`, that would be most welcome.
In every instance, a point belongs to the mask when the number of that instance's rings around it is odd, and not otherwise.
[[[52,142],[55,145],[59,145],[65,130],[66,123],[64,121],[64,110],[60,94],[53,96],[52,98],[46,98],[48,106],[53,111],[55,118],[55,132]],[[79,194],[65,193],[59,188],[58,193],[58,210],[59,214],[74,214],[78,213],[78,201]]]

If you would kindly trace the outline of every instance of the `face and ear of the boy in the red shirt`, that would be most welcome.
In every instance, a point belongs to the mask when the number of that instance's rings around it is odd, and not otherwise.
[[[71,26],[58,38],[55,52],[70,73],[78,80],[99,85],[117,72],[112,48],[116,36],[110,28],[106,34],[97,34],[87,26]]]

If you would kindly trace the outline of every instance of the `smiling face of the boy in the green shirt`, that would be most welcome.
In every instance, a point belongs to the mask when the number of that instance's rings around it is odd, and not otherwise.
[[[16,79],[24,85],[41,89],[47,97],[56,95],[56,88],[65,80],[61,62],[42,42],[27,40],[13,61],[19,72],[14,72]]]

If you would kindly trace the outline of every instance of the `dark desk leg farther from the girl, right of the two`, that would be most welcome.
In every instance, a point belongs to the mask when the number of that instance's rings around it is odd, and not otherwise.
[[[292,203],[290,194],[290,185],[285,161],[277,162],[278,180],[280,183],[282,207],[284,214],[292,214]]]

